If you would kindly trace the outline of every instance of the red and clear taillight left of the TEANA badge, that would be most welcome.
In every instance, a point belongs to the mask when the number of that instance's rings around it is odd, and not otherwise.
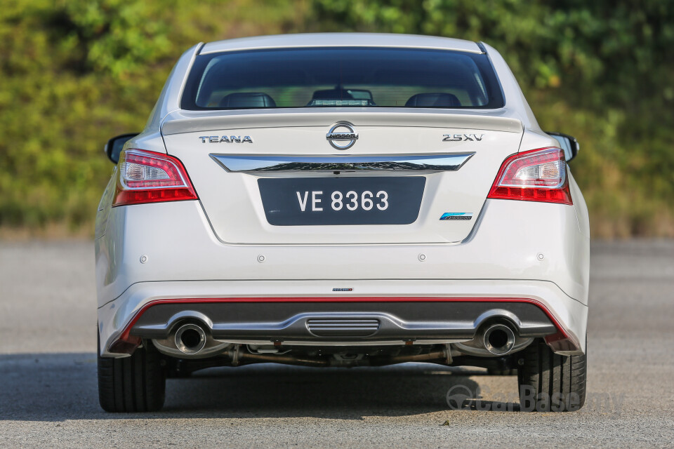
[[[113,207],[198,199],[183,164],[174,157],[128,149],[119,155],[118,167]]]

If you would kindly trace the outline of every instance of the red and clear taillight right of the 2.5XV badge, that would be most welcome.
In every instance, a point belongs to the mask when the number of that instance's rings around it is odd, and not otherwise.
[[[541,148],[509,156],[487,198],[573,204],[564,150]]]

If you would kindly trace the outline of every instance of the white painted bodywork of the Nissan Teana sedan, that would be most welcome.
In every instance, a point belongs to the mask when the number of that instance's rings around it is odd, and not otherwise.
[[[576,340],[577,349],[560,353],[582,354],[589,225],[586,204],[570,170],[573,205],[485,199],[507,156],[557,146],[539,128],[501,55],[484,46],[503,88],[505,106],[500,109],[180,109],[183,86],[197,54],[296,46],[480,53],[477,44],[469,41],[379,34],[264,36],[190,48],[171,72],[145,130],[126,148],[177,156],[199,201],[111,208],[115,170],[99,207],[95,241],[101,355],[124,356],[110,352],[110,344],[140,309],[159,298],[270,295],[527,297],[543,304]],[[325,133],[344,120],[353,123],[360,135],[352,154],[470,151],[475,156],[456,172],[425,174],[418,220],[392,227],[272,227],[261,207],[256,176],[226,173],[209,158],[213,152],[334,154]],[[200,136],[206,132],[249,135],[253,143],[236,148],[202,143]],[[477,133],[484,138],[442,142],[447,133]],[[473,213],[474,218],[438,220],[445,212]],[[336,286],[353,290],[333,293]]]

